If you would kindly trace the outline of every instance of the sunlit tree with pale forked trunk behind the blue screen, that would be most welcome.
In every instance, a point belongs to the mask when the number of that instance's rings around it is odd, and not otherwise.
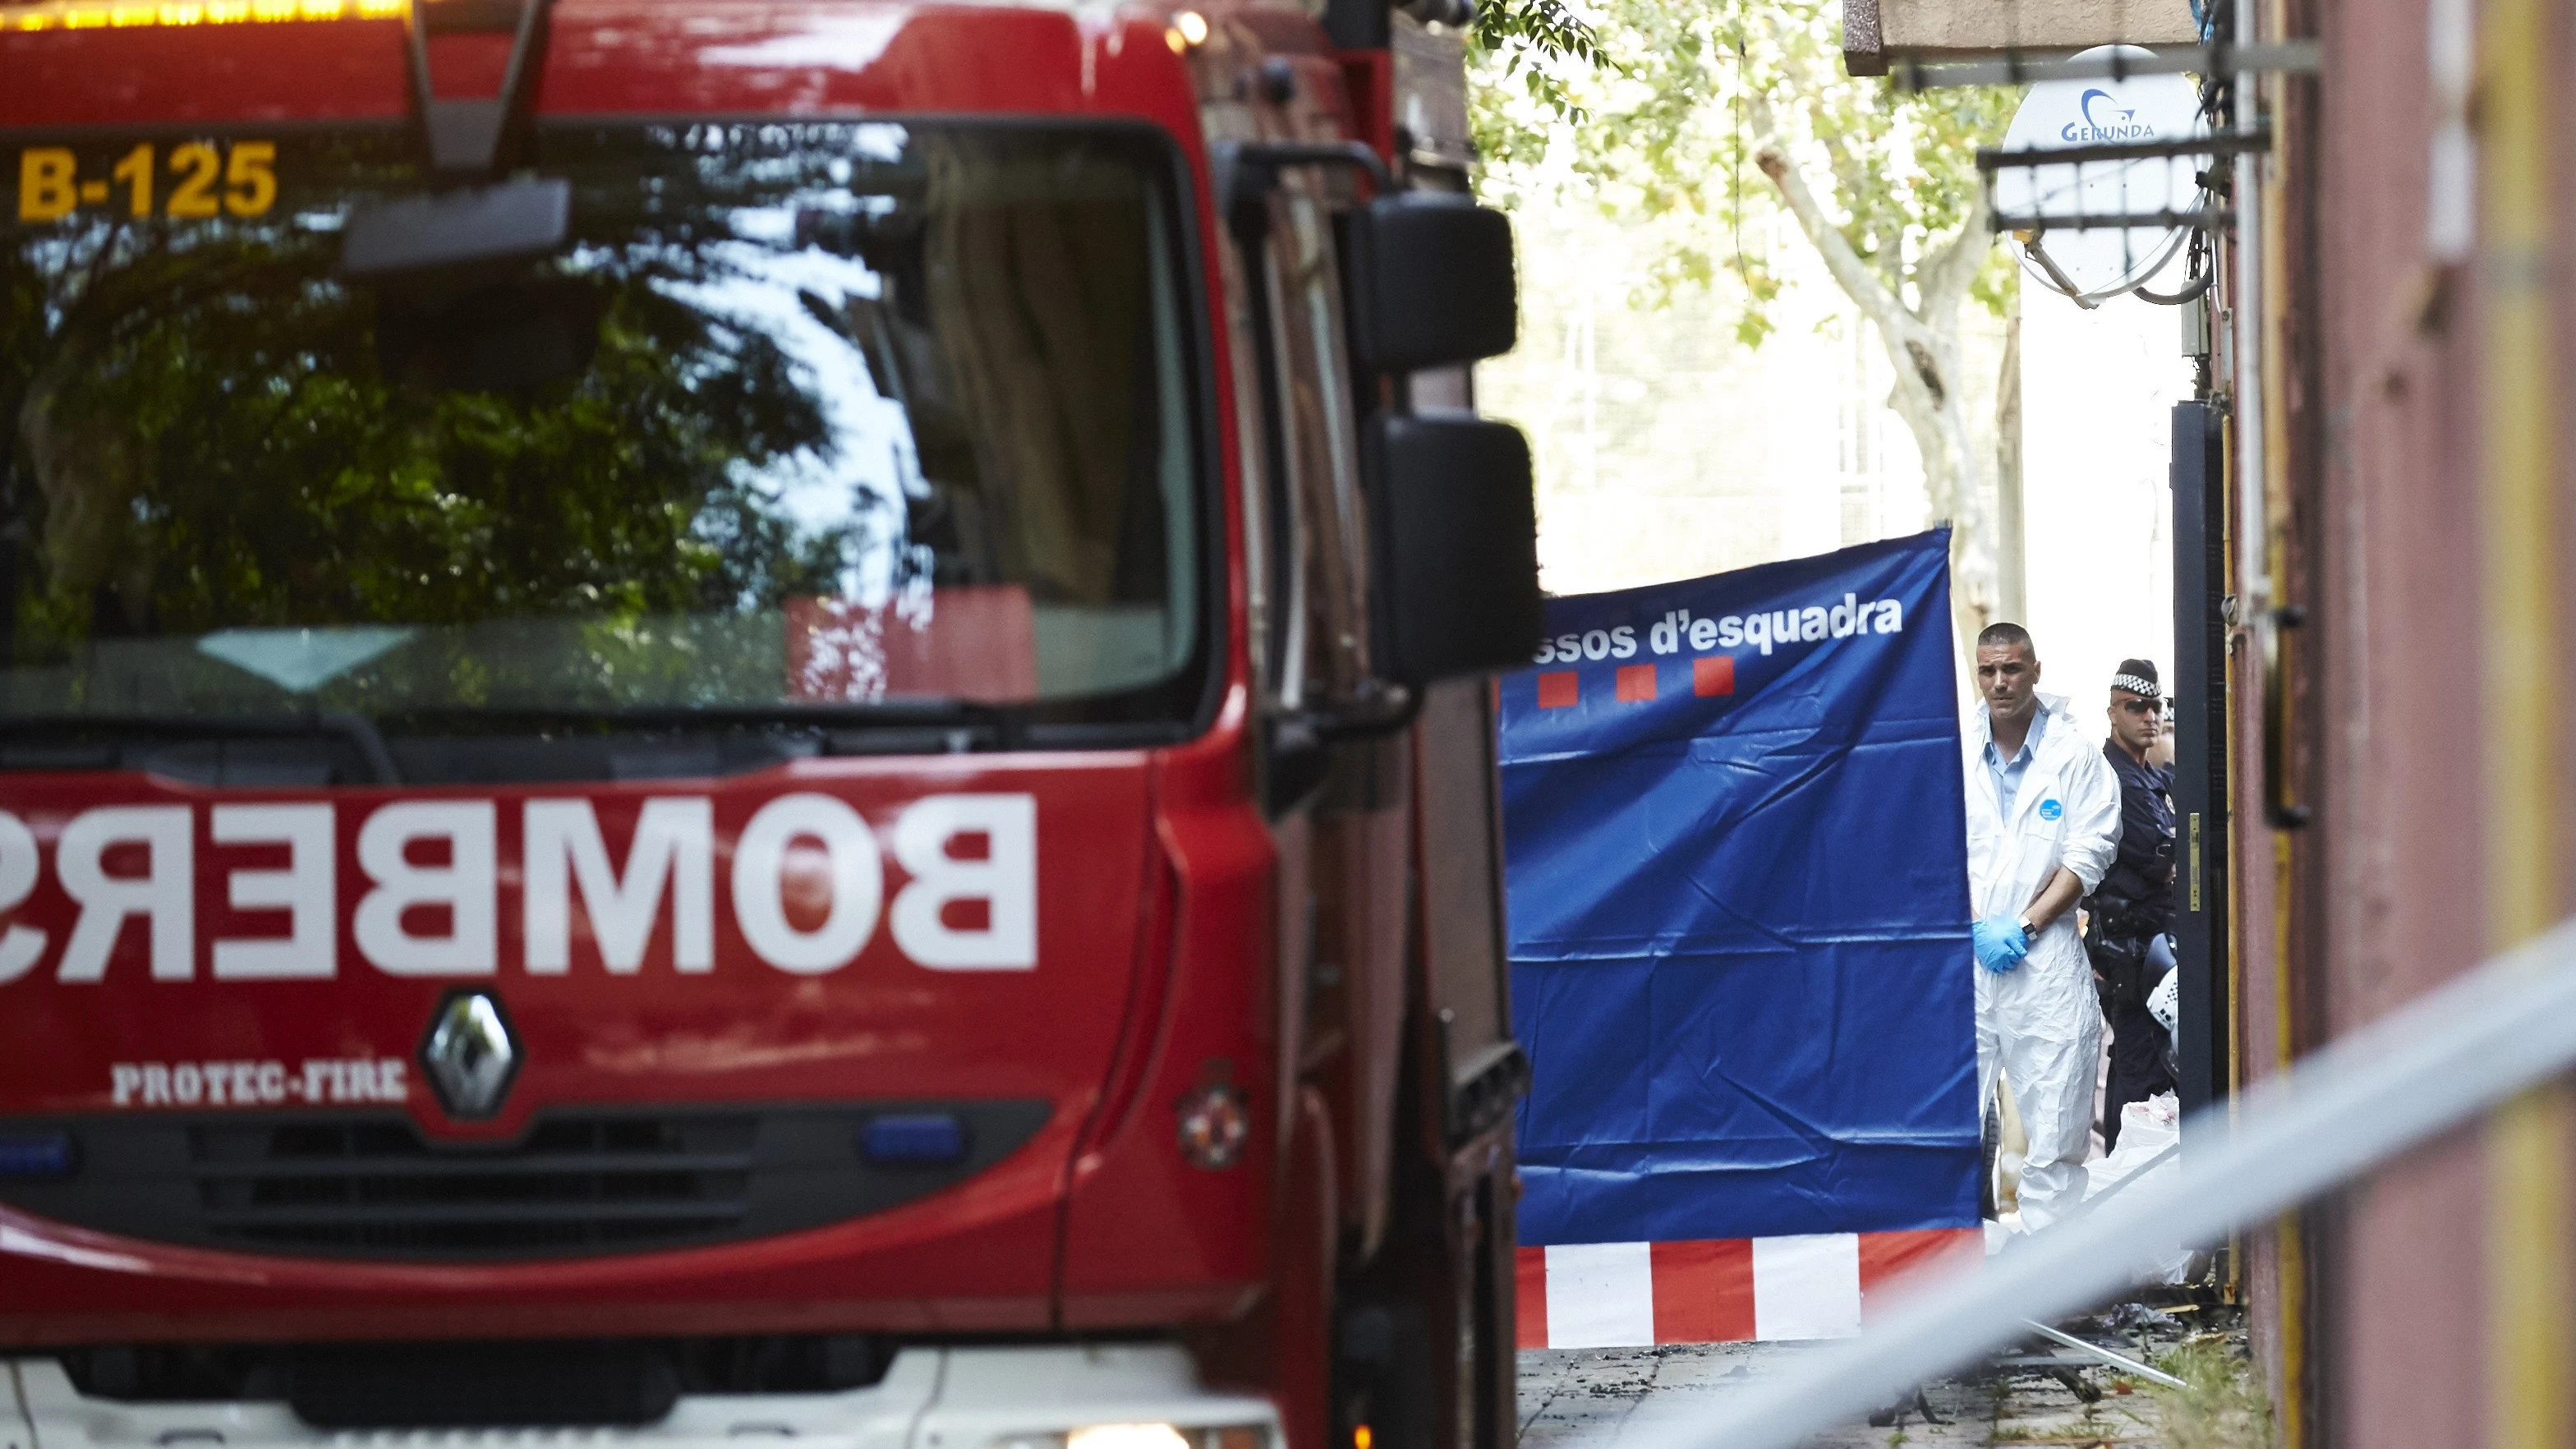
[[[1989,608],[1994,459],[1965,413],[1960,307],[2002,315],[2014,284],[1986,232],[1976,147],[2002,137],[2017,93],[1909,95],[1844,75],[1839,0],[1592,0],[1571,26],[1520,26],[1481,52],[1486,199],[1597,206],[1646,232],[1641,302],[1734,276],[1744,345],[1770,335],[1780,291],[1744,229],[1793,217],[1886,343],[1888,405],[1935,513],[1958,526],[1963,596]],[[1584,44],[1553,44],[1564,34]]]

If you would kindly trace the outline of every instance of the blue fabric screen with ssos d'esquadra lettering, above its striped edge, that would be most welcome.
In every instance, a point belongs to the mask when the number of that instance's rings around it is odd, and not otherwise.
[[[1520,1240],[1976,1227],[1947,531],[1548,634],[1502,681]]]

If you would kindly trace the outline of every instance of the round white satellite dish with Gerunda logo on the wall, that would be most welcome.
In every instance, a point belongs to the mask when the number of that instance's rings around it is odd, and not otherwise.
[[[2156,59],[2138,46],[2094,46],[2074,59]],[[2179,75],[2128,80],[2043,80],[2022,98],[2004,131],[2004,150],[2179,142],[2210,134],[2200,88]],[[2089,160],[2081,165],[2007,165],[1994,173],[1994,211],[2012,224],[2022,268],[2050,291],[2092,307],[2151,281],[2182,250],[2190,227],[2084,227],[2084,217],[2146,217],[2200,209],[2197,173],[2208,155]]]

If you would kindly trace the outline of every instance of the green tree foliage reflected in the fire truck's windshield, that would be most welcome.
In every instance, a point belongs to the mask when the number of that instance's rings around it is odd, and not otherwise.
[[[353,150],[368,147],[289,160],[343,193],[402,178]],[[647,219],[554,276],[379,289],[332,276],[337,237],[296,201],[265,222],[100,217],[0,248],[10,665],[227,627],[559,619],[562,647],[518,652],[528,694],[580,691],[559,673],[580,657],[592,683],[636,676],[611,696],[667,696],[708,660],[644,639],[644,621],[835,588],[855,539],[793,529],[752,485],[829,446],[811,379],[768,333],[677,297],[726,281],[721,245]],[[698,199],[701,232],[721,217]],[[440,376],[459,353],[507,371],[556,317],[595,348],[587,366]],[[513,694],[484,678],[507,655],[471,632],[428,642],[407,663],[435,694]],[[706,681],[726,683],[744,681]]]

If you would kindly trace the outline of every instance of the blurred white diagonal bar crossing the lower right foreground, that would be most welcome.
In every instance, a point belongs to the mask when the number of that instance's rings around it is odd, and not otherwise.
[[[2298,1207],[2576,1065],[2576,920],[2236,1098],[2236,1132],[2187,1124],[2182,1171],[2014,1240],[1950,1289],[1718,1403],[1638,1413],[1620,1449],[1790,1449],[2130,1287],[2138,1240],[2215,1243]],[[2202,1145],[2208,1142],[2208,1145]],[[1651,1418],[1649,1418],[1651,1415]],[[1607,1444],[1607,1436],[1602,1439]]]

